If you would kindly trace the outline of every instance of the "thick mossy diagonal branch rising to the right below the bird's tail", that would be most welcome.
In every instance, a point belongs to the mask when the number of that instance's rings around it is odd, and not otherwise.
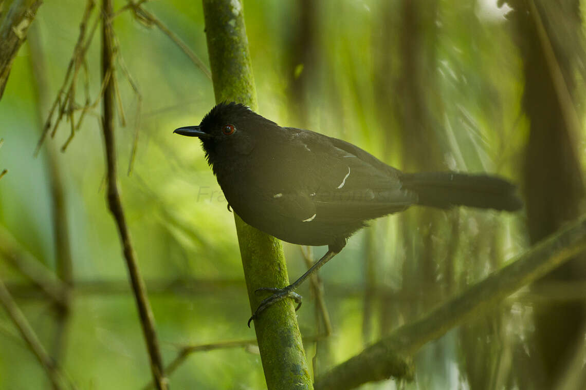
[[[564,261],[586,250],[586,217],[552,234],[483,281],[444,303],[420,320],[399,327],[345,363],[334,367],[315,388],[345,390],[391,376],[411,378],[410,363],[425,343],[455,326],[478,317],[517,289],[539,279]]]

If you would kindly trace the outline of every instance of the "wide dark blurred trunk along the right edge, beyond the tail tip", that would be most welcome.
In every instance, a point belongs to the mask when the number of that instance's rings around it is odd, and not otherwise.
[[[583,98],[575,90],[575,74],[582,78],[586,74],[580,1],[507,2],[514,9],[510,20],[524,65],[523,109],[530,131],[523,187],[529,237],[536,243],[584,211],[583,172],[576,149],[581,129],[575,111]],[[580,255],[535,285],[584,279],[586,258]],[[519,370],[519,381],[522,387],[556,388],[584,347],[586,301],[536,305],[534,323],[536,342],[526,364],[542,370]],[[586,383],[574,385],[584,388]]]

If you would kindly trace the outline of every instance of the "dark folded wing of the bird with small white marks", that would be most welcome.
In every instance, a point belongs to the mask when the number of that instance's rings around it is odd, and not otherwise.
[[[346,223],[403,210],[417,195],[398,171],[366,151],[319,133],[286,128],[286,151],[263,174],[274,211],[304,222]],[[276,156],[276,154],[275,154]]]

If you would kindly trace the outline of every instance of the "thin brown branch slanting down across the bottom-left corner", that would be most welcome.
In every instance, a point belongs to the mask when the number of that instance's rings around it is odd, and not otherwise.
[[[35,331],[29,325],[29,322],[26,320],[25,315],[21,312],[21,309],[18,308],[14,299],[10,295],[8,289],[4,285],[4,282],[0,278],[0,302],[2,306],[6,309],[9,317],[11,318],[12,322],[21,333],[22,339],[26,341],[30,351],[35,355],[37,360],[39,361],[40,365],[45,369],[47,373],[47,377],[49,377],[49,381],[54,390],[63,389],[63,375],[55,367],[53,361],[49,357],[49,354],[45,351],[42,344],[39,341],[39,338],[36,336]]]

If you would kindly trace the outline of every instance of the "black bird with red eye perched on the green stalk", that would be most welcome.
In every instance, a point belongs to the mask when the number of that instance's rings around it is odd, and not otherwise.
[[[248,225],[288,243],[328,246],[305,274],[272,292],[248,320],[292,298],[310,275],[340,253],[368,220],[410,206],[469,206],[516,211],[516,185],[496,175],[454,171],[408,173],[360,147],[311,130],[281,127],[236,102],[221,102],[199,126],[173,133],[198,137],[234,212]],[[296,310],[297,310],[296,309]]]

